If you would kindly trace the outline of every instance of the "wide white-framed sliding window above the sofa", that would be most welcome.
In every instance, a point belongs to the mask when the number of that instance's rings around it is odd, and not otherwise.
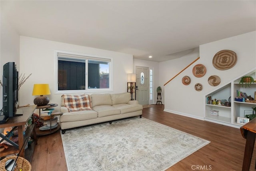
[[[57,91],[110,89],[111,59],[59,52],[57,52],[57,58]]]

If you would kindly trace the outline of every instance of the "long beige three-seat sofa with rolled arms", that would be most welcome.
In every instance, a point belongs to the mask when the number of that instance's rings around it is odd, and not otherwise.
[[[126,117],[140,116],[142,117],[142,105],[136,100],[130,100],[130,93],[119,94],[98,94],[90,95],[92,110],[68,111],[64,105],[64,97],[62,96],[60,111],[60,127],[62,134],[66,129],[90,125],[94,123],[122,119]]]

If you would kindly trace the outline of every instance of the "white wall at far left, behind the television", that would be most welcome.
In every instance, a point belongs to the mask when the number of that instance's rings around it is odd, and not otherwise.
[[[20,35],[1,15],[0,21],[0,80],[2,82],[3,66],[7,62],[15,62],[19,70],[20,62]],[[3,89],[0,86],[0,108],[3,106]]]

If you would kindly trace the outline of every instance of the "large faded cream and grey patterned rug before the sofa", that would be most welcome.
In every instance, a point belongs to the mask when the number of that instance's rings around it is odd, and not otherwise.
[[[164,171],[210,141],[132,117],[61,134],[68,171]]]

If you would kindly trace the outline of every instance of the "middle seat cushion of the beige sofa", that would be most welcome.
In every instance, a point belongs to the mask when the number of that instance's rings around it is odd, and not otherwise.
[[[120,114],[120,109],[117,109],[111,105],[99,105],[92,107],[92,109],[98,112],[98,117]]]

